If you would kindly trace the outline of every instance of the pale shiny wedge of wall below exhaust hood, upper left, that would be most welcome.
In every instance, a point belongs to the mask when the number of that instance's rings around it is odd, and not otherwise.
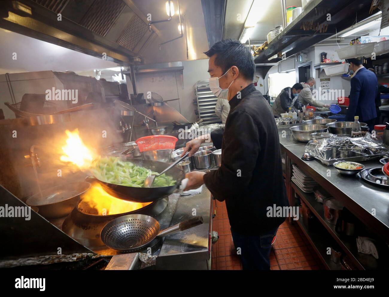
[[[0,28],[0,74],[30,71],[79,71],[116,67],[116,63]],[[5,42],[6,41],[6,42]],[[16,53],[16,60],[12,59]]]

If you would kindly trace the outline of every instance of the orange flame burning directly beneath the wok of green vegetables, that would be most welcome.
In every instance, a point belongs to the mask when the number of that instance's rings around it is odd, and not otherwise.
[[[98,214],[100,216],[107,216],[109,214],[123,214],[124,212],[137,210],[145,207],[146,205],[149,205],[151,202],[137,203],[115,198],[114,196],[111,196],[105,192],[100,184],[96,183],[93,184],[92,187],[82,197],[80,207],[83,209],[84,207],[82,204],[84,203],[88,203],[89,208],[92,209],[86,210],[85,212],[96,215]]]

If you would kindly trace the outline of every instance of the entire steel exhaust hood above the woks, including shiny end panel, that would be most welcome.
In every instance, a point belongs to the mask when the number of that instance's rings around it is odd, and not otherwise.
[[[0,7],[0,27],[119,65],[186,60],[188,50],[189,60],[206,58],[201,1],[181,0],[179,5],[187,20],[184,38],[161,51],[158,44],[180,32],[177,13],[169,24],[153,24],[149,30],[150,16],[156,20],[165,14],[160,0],[6,0]]]

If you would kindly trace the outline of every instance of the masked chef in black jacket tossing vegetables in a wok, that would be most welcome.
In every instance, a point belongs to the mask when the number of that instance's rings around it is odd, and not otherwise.
[[[231,109],[224,131],[186,144],[182,154],[190,150],[191,156],[210,138],[222,148],[222,163],[209,173],[187,173],[185,190],[205,184],[217,200],[225,201],[243,268],[268,270],[273,237],[285,221],[269,210],[288,205],[277,126],[270,105],[252,83],[255,64],[249,49],[227,39],[205,54],[210,57],[210,88],[226,97]]]

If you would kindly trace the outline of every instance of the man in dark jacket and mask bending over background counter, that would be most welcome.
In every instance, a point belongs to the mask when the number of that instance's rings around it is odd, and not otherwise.
[[[292,111],[300,110],[302,105],[297,99],[302,89],[301,83],[295,83],[293,87],[284,88],[273,103],[272,111],[274,117],[280,118],[281,113],[289,111],[289,107],[292,108]]]

